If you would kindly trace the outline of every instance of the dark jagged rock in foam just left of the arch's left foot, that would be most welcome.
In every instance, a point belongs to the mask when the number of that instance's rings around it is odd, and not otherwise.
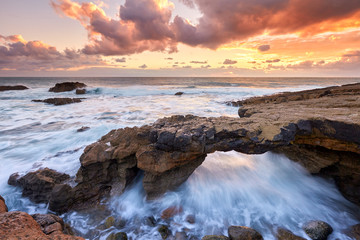
[[[14,186],[22,187],[23,196],[29,197],[30,200],[36,203],[41,203],[48,202],[54,187],[69,178],[70,176],[68,174],[44,168],[27,173],[22,177],[19,177],[18,174],[13,174],[10,176],[8,182]]]

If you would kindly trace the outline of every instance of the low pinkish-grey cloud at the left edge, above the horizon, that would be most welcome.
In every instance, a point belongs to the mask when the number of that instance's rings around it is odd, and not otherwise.
[[[26,41],[21,35],[0,35],[0,59],[0,70],[69,70],[106,64],[100,58],[86,56],[79,50],[58,51],[41,41]]]

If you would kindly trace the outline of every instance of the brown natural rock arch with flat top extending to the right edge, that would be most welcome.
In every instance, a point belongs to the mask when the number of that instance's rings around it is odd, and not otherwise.
[[[52,186],[49,208],[87,208],[121,194],[139,171],[147,198],[155,199],[185,182],[207,154],[231,150],[284,153],[311,173],[333,177],[360,204],[360,91],[338,92],[321,101],[248,104],[256,113],[244,118],[172,116],[112,130],[85,148],[76,186]]]

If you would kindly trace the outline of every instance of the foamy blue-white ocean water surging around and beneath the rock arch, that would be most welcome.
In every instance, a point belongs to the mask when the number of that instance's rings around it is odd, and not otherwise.
[[[48,92],[55,83],[67,81],[87,84],[87,94]],[[0,85],[30,88],[0,92],[0,195],[11,211],[46,213],[45,204],[31,203],[7,184],[12,173],[49,167],[74,176],[84,148],[112,129],[177,114],[238,117],[238,108],[225,102],[356,82],[360,78],[0,78]],[[31,101],[51,97],[86,99],[64,106]],[[89,130],[77,132],[83,126]],[[106,239],[119,231],[129,239],[161,239],[161,224],[168,224],[173,235],[186,232],[189,239],[227,235],[230,225],[255,228],[264,239],[274,239],[276,227],[306,237],[301,226],[314,219],[334,228],[329,239],[350,239],[342,231],[360,221],[359,207],[344,199],[331,180],[311,176],[271,152],[209,154],[179,189],[151,202],[145,200],[141,177],[106,202],[107,210],[72,211],[62,217],[88,239]],[[170,206],[183,211],[166,222],[160,216]],[[194,215],[195,224],[186,221],[188,215]],[[121,224],[104,229],[109,216]],[[149,224],[149,217],[156,223]]]

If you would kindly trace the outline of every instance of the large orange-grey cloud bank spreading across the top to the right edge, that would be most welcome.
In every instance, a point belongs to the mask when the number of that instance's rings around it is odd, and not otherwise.
[[[217,49],[262,35],[312,36],[359,27],[359,0],[181,0],[201,12],[197,24],[172,18],[168,0],[125,0],[118,19],[94,3],[54,0],[60,14],[78,20],[89,33],[86,54],[126,55],[177,51],[177,44]],[[270,45],[258,47],[268,51]]]

